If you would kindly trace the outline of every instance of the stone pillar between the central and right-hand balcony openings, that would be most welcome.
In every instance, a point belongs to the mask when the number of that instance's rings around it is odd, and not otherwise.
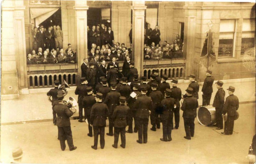
[[[132,1],[132,60],[134,67],[137,68],[139,78],[143,72],[143,44],[144,44],[144,17],[145,1]]]

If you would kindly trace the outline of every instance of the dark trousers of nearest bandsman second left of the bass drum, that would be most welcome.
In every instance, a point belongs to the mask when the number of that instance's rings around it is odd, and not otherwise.
[[[166,116],[165,116],[166,117]],[[166,118],[161,119],[163,124],[163,139],[167,140],[172,138],[172,118],[173,112],[170,111]]]

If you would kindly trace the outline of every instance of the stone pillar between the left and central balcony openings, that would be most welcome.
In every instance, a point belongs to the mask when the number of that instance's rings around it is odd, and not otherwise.
[[[76,10],[78,80],[81,77],[80,66],[84,62],[84,58],[87,58],[87,10],[89,6],[86,4],[87,1],[76,1],[74,6]]]

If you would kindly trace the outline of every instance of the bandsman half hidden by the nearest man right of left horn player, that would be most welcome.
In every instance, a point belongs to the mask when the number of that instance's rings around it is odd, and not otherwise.
[[[86,92],[87,92],[87,96],[83,98],[82,103],[85,111],[84,113],[88,121],[89,133],[87,135],[89,137],[92,137],[92,126],[90,126],[90,121],[91,121],[90,115],[91,115],[92,106],[96,103],[96,100],[95,100],[95,97],[92,95],[92,87],[87,87]]]

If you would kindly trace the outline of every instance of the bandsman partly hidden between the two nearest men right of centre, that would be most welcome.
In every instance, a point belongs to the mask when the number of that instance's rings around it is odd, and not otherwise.
[[[149,97],[151,97],[153,103],[152,103],[152,110],[150,114],[150,123],[152,125],[152,128],[150,130],[156,131],[157,129],[160,129],[160,118],[159,118],[159,108],[160,103],[164,99],[164,95],[157,89],[157,82],[153,82],[151,84],[152,92],[149,94]]]

